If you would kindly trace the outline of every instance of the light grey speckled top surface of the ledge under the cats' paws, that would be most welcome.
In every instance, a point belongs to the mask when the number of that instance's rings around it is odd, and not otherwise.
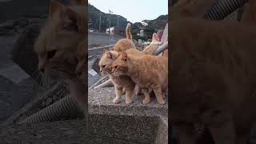
[[[119,114],[119,115],[140,115],[140,116],[158,116],[168,115],[168,98],[165,98],[166,104],[160,105],[154,97],[150,98],[150,103],[142,103],[142,96],[134,96],[133,102],[127,105],[122,96],[122,102],[114,104],[114,87],[104,89],[88,90],[88,103],[90,114]]]

